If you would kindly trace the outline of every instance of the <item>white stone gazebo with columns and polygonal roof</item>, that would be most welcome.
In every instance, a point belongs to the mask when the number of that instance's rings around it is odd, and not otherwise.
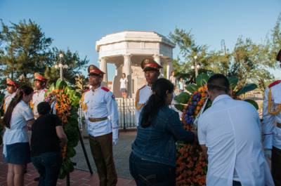
[[[172,70],[173,44],[169,39],[156,32],[125,31],[108,34],[96,41],[96,51],[99,53],[100,69],[105,72],[103,79],[107,84],[107,63],[115,64],[115,77],[112,82],[112,91],[115,96],[121,97],[119,91],[122,73],[128,78],[128,95],[134,98],[136,90],[145,85],[145,77],[141,69],[144,58],[153,58],[164,69],[162,77],[169,79]]]

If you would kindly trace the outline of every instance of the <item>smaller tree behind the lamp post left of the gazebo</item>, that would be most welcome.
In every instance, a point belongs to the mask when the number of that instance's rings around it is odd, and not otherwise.
[[[59,63],[59,54],[63,53],[63,65],[67,65],[67,69],[63,69],[63,77],[67,79],[71,86],[75,84],[75,77],[81,74],[81,70],[86,68],[89,60],[85,58],[80,58],[78,52],[72,53],[68,48],[67,51],[59,50],[58,48],[53,48],[52,51],[52,64],[51,67],[46,66],[44,76],[49,79],[48,84],[55,83],[55,81],[60,78],[59,69],[55,69],[54,65],[56,62]]]

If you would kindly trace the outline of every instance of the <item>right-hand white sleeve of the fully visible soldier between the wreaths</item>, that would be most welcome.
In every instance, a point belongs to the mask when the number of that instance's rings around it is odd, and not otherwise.
[[[118,138],[118,107],[117,102],[115,100],[115,96],[112,92],[108,92],[106,94],[106,106],[108,112],[108,119],[111,122],[112,126],[112,138]]]

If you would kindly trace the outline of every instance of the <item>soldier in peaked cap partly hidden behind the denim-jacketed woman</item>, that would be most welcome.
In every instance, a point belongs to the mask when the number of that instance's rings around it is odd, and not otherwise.
[[[147,84],[142,86],[141,88],[136,91],[136,100],[135,100],[135,107],[136,107],[136,125],[138,126],[139,117],[141,114],[141,110],[145,106],[145,103],[148,101],[148,98],[152,94],[151,86],[152,84],[158,79],[160,75],[160,69],[162,68],[155,60],[150,58],[146,58],[141,62],[141,68],[145,74],[145,79]]]

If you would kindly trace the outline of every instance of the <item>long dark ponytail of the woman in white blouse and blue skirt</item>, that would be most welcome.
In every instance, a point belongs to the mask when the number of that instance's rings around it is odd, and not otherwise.
[[[17,93],[15,93],[15,97],[13,98],[13,100],[11,100],[10,104],[8,105],[7,111],[4,114],[4,125],[7,128],[11,127],[11,118],[12,118],[12,113],[13,113],[13,109],[15,108],[16,105],[18,105],[18,102],[20,102],[20,100],[22,100],[23,95],[30,95],[31,93],[33,93],[33,88],[31,86],[28,85],[22,85],[20,86],[20,88],[18,88]]]

